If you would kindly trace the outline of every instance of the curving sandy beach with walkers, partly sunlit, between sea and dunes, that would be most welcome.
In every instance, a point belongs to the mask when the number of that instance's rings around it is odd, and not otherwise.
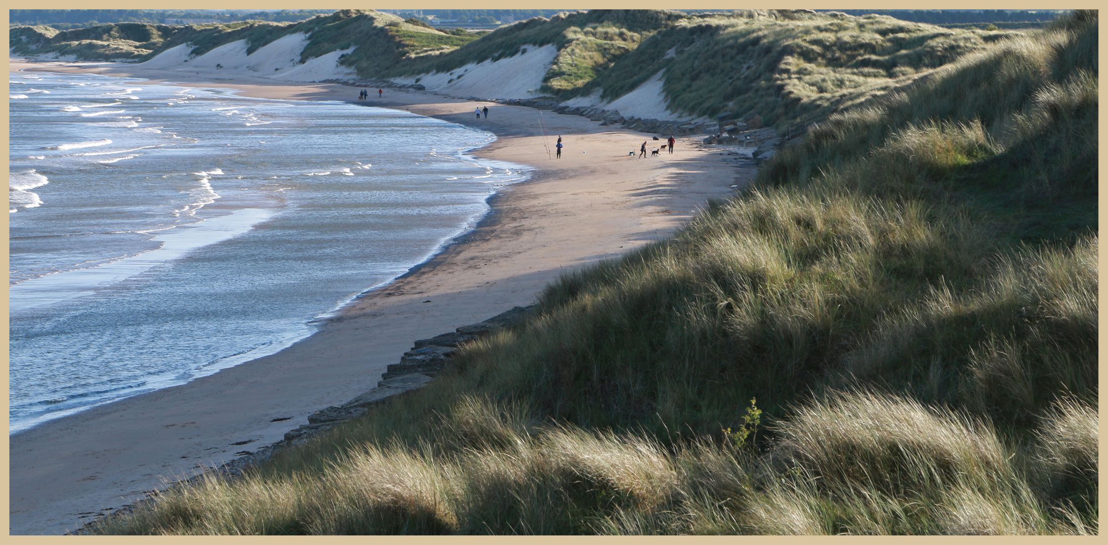
[[[535,168],[490,199],[470,234],[394,282],[349,305],[318,332],[273,356],[47,422],[10,439],[10,533],[62,534],[110,513],[162,477],[192,475],[236,452],[279,441],[307,415],[373,388],[416,339],[529,305],[560,274],[618,256],[673,233],[710,198],[722,198],[752,167],[678,138],[674,154],[630,157],[653,135],[581,116],[377,89],[357,101],[340,84],[285,83],[127,65],[11,61],[11,71],[102,72],[189,86],[234,88],[248,96],[406,110],[473,126],[497,140],[474,155]],[[489,106],[475,120],[474,107]],[[545,131],[544,131],[545,128]],[[544,135],[545,132],[545,135]],[[563,137],[563,158],[551,158]],[[371,142],[362,143],[372,145]],[[550,152],[547,152],[548,145]],[[657,148],[661,142],[648,142]],[[286,419],[273,422],[274,419]]]

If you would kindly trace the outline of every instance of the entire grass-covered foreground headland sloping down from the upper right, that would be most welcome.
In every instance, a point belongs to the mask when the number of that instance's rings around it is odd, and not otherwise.
[[[1097,28],[837,113],[429,387],[98,532],[1097,533]]]

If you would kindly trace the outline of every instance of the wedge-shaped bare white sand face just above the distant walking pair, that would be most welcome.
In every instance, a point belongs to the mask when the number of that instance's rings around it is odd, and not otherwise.
[[[435,72],[419,76],[419,83],[428,91],[455,96],[479,96],[482,99],[527,99],[538,96],[536,90],[543,84],[543,76],[557,56],[553,44],[536,48],[525,45],[521,52],[499,61],[485,60],[478,64],[466,64],[450,72]],[[417,78],[398,78],[397,83],[417,83]]]

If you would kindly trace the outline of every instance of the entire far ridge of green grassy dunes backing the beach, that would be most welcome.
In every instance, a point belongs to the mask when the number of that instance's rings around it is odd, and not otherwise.
[[[246,40],[248,51],[294,32],[310,35],[301,61],[355,48],[340,60],[362,78],[448,72],[553,44],[558,54],[542,91],[560,100],[633,91],[665,71],[671,111],[743,116],[783,128],[880,96],[1014,31],[943,29],[884,16],[771,10],[689,14],[665,10],[591,10],[533,18],[489,32],[440,32],[372,10],[340,10],[298,23],[264,21],[198,27],[104,24],[58,32],[14,27],[17,53],[84,60],[148,59],[188,43],[193,54]]]

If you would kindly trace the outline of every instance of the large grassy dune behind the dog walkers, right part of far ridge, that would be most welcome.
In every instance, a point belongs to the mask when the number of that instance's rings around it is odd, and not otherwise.
[[[783,127],[830,113],[950,63],[1014,32],[951,30],[883,16],[807,11],[686,14],[591,10],[534,18],[456,51],[398,65],[397,74],[447,72],[554,44],[542,90],[557,99],[616,99],[666,71],[670,109],[694,115],[759,113]]]

